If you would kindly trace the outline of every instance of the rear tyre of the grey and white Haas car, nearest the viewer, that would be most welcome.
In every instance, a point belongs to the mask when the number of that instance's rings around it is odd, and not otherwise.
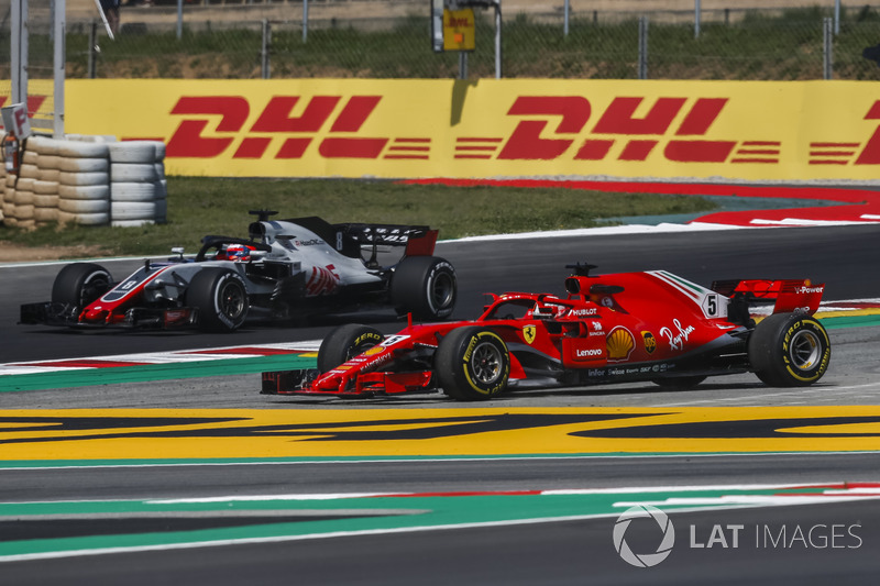
[[[455,309],[455,269],[437,256],[408,256],[392,276],[392,302],[418,320],[442,320]]]

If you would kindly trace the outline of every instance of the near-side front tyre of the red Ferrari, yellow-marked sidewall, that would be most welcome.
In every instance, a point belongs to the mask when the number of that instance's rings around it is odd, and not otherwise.
[[[507,388],[510,353],[492,330],[475,325],[457,328],[440,341],[433,371],[449,397],[460,401],[486,400]]]

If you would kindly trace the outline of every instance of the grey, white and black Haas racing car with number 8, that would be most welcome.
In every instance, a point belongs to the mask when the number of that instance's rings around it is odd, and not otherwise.
[[[436,230],[251,213],[258,221],[250,224],[249,239],[205,236],[195,257],[174,248],[176,257],[144,261],[119,283],[98,264],[67,265],[52,301],[22,306],[21,322],[229,332],[249,318],[277,322],[364,307],[424,320],[452,313],[455,269],[432,256]],[[396,262],[383,266],[380,256]]]

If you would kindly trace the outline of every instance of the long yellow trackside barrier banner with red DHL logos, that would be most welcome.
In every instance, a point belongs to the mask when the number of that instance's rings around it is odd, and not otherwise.
[[[876,179],[868,81],[68,80],[66,131],[235,177]]]

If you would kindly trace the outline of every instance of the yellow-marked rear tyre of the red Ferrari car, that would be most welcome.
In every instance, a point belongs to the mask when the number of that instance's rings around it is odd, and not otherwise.
[[[748,351],[751,369],[773,387],[812,385],[828,369],[832,357],[825,328],[801,313],[774,313],[761,320]]]

